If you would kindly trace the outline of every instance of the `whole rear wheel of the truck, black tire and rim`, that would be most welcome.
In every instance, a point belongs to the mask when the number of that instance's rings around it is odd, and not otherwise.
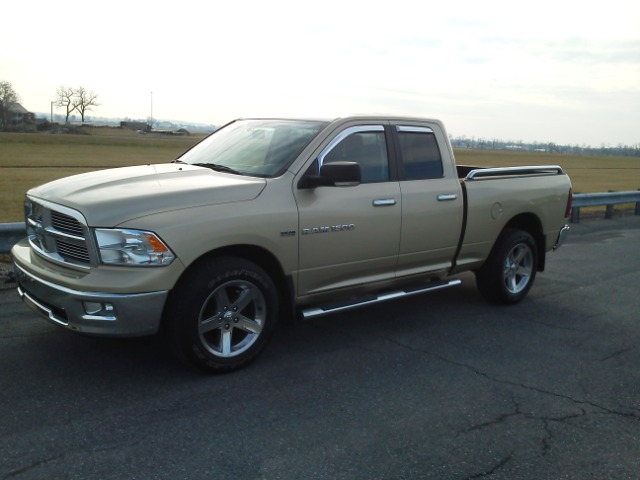
[[[517,303],[531,289],[537,266],[538,247],[534,238],[524,230],[506,228],[485,264],[475,272],[476,285],[492,303]]]

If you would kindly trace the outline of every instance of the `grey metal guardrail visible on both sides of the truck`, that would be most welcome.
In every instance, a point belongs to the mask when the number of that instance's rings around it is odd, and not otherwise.
[[[581,207],[606,206],[604,218],[612,218],[614,205],[635,203],[635,215],[640,215],[640,190],[630,192],[576,193],[573,195],[571,223],[580,222]],[[0,223],[0,253],[9,253],[11,247],[27,235],[22,222]]]

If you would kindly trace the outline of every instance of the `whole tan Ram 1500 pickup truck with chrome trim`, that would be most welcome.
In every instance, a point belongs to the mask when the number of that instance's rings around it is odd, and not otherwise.
[[[518,302],[570,208],[560,167],[456,166],[437,120],[246,119],[171,163],[29,190],[12,254],[20,296],[50,321],[163,332],[179,358],[225,371],[278,319],[451,287],[463,271],[488,300]]]

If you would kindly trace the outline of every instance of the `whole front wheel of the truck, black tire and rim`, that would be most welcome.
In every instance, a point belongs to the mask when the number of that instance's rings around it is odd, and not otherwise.
[[[171,292],[165,312],[169,346],[179,359],[208,372],[243,367],[273,331],[277,298],[273,281],[253,262],[206,259]]]

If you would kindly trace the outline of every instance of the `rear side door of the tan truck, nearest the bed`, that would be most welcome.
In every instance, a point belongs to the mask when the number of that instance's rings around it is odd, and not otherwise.
[[[458,176],[437,126],[395,124],[402,229],[398,276],[444,272],[451,267],[463,222]],[[446,147],[444,147],[446,148]]]

